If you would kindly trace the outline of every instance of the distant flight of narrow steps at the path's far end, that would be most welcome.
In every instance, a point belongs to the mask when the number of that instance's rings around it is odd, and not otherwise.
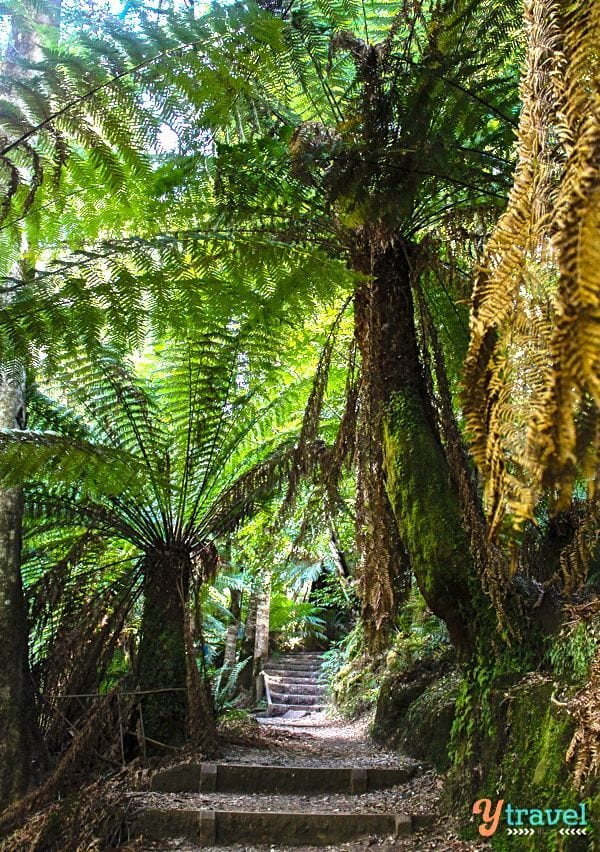
[[[298,718],[324,709],[326,687],[319,683],[323,657],[318,653],[283,654],[263,672],[267,714]]]

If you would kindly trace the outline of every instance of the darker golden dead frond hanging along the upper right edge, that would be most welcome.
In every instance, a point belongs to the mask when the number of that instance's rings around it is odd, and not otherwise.
[[[555,124],[566,157],[552,226],[559,281],[552,371],[529,457],[535,479],[557,489],[561,507],[575,478],[593,477],[600,459],[597,443],[592,458],[578,448],[586,396],[600,419],[600,7],[585,0],[558,5],[563,44],[553,74]]]

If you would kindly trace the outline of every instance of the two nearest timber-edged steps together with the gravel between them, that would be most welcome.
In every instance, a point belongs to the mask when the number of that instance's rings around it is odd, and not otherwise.
[[[135,834],[150,844],[176,839],[178,849],[182,842],[194,844],[190,849],[265,844],[285,850],[338,846],[366,835],[403,837],[435,817],[365,810],[361,798],[414,774],[414,767],[182,764],[154,775],[155,804],[138,813]],[[343,809],[336,807],[338,798]]]

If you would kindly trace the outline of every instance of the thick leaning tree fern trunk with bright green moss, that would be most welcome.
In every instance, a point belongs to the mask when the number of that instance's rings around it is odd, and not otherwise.
[[[364,381],[377,383],[382,473],[403,546],[430,609],[463,653],[476,646],[485,598],[473,577],[470,539],[432,410],[411,291],[415,248],[401,239],[363,243],[355,267],[371,276],[358,294]]]

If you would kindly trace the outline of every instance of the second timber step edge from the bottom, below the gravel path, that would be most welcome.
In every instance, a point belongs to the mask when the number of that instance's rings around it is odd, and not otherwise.
[[[368,793],[403,784],[416,767],[263,766],[251,763],[182,763],[156,772],[158,793]]]

